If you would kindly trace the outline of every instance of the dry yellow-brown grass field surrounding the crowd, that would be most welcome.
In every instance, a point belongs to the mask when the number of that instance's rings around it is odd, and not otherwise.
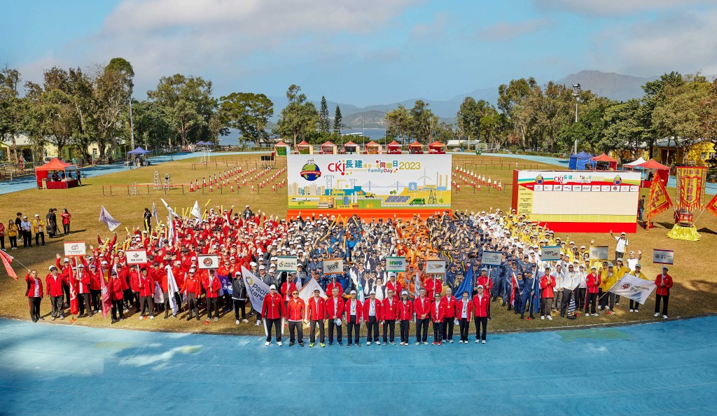
[[[214,158],[211,164],[206,166],[197,164],[199,161],[195,159],[187,159],[85,179],[83,181],[84,186],[76,189],[54,191],[31,189],[3,195],[0,197],[0,212],[4,214],[5,218],[0,217],[0,220],[3,220],[5,224],[9,219],[15,218],[16,212],[27,214],[30,218],[34,214],[40,214],[44,218],[47,209],[54,207],[60,210],[67,208],[72,214],[72,234],[70,236],[56,239],[46,238],[47,245],[33,247],[32,250],[23,250],[21,242],[21,248],[8,252],[29,268],[37,268],[39,275],[44,277],[48,266],[54,264],[55,253],[62,254],[62,242],[84,240],[89,244],[95,244],[98,234],[102,237],[110,236],[105,225],[98,222],[101,206],[104,206],[115,219],[122,223],[116,230],[122,237],[125,234],[125,226],[132,230],[133,226],[141,225],[143,209],[145,207],[151,209],[152,202],[157,204],[160,217],[166,216],[166,209],[162,206],[160,198],[165,199],[177,212],[189,209],[195,201],[198,201],[200,207],[206,205],[207,208],[215,207],[219,209],[234,205],[235,209],[242,210],[245,205],[249,204],[255,212],[261,210],[266,212],[267,216],[285,217],[287,211],[285,187],[277,189],[276,192],[271,191],[271,186],[268,189],[255,189],[255,192],[251,192],[248,187],[242,187],[242,189],[238,190],[235,188],[234,192],[229,192],[228,186],[223,187],[221,191],[213,189],[212,192],[209,192],[209,188],[206,187],[196,192],[189,192],[190,181],[198,180],[201,186],[203,178],[213,177],[214,174],[219,176],[222,171],[236,166],[242,166],[243,171],[255,169],[260,166],[259,159],[257,155],[219,155]],[[491,179],[501,181],[504,186],[502,192],[498,192],[495,189],[488,190],[485,187],[478,192],[470,187],[461,186],[460,192],[454,189],[452,193],[452,208],[467,212],[488,210],[496,207],[507,210],[511,204],[510,183],[516,163],[519,164],[520,169],[556,169],[556,166],[537,164],[535,162],[526,164],[526,161],[519,159],[471,155],[454,156],[454,169],[455,166],[460,166],[480,172],[480,174],[490,176]],[[265,175],[264,178],[272,176],[284,166],[285,159],[284,161],[278,161],[277,169]],[[152,184],[155,170],[159,172],[162,178],[165,174],[170,174],[171,181],[175,184],[174,189],[166,192],[154,190]],[[275,179],[275,182],[282,181],[285,176],[285,174],[281,174]],[[128,196],[130,192],[128,192],[126,185],[130,185],[133,182],[139,184],[137,187],[138,194]],[[179,184],[185,184],[184,191]],[[643,189],[643,192],[647,193],[647,189]],[[675,190],[670,189],[670,194],[674,196],[674,193]],[[672,290],[672,296],[670,296],[670,315],[673,317],[695,316],[713,313],[717,310],[717,296],[713,294],[713,286],[717,283],[717,278],[709,272],[714,247],[717,247],[717,232],[714,231],[717,230],[717,218],[706,213],[699,217],[696,225],[702,236],[700,242],[670,240],[665,236],[665,233],[672,227],[672,214],[671,212],[665,212],[658,217],[654,229],[650,231],[639,229],[637,234],[629,236],[630,249],[636,252],[637,250],[642,250],[643,252],[642,269],[648,278],[652,278],[660,272],[660,267],[652,265],[652,259],[650,258],[652,249],[669,248],[675,250],[675,265],[670,268],[670,275],[675,278],[675,287]],[[619,232],[619,230],[614,231]],[[570,235],[569,240],[574,240],[577,245],[589,245],[590,240],[595,240],[597,245],[609,245],[610,250],[614,249],[614,240],[608,234]],[[6,246],[9,246],[7,239]],[[0,316],[28,319],[28,303],[27,298],[24,297],[26,285],[22,280],[26,270],[18,263],[13,263],[13,266],[19,275],[19,280],[8,278],[4,275],[4,272],[1,272],[3,277],[0,278],[0,296],[3,301]],[[493,305],[496,306],[497,303]],[[535,328],[573,327],[596,323],[645,321],[653,319],[652,308],[654,308],[654,296],[647,301],[645,306],[642,306],[639,314],[627,313],[627,301],[623,301],[622,306],[616,308],[617,313],[613,316],[581,317],[575,321],[556,318],[555,321],[538,320],[531,322],[521,321],[512,312],[508,313],[503,308],[494,308],[489,331],[522,331]],[[46,298],[42,302],[42,316],[47,316],[49,310],[49,299]],[[181,316],[184,316],[184,313],[181,313]],[[46,322],[49,322],[49,319]],[[56,322],[70,324],[67,318],[65,321]],[[102,318],[99,315],[93,318],[80,318],[72,324],[110,326],[110,319]],[[165,321],[161,317],[152,321],[139,321],[130,313],[128,319],[116,323],[113,325],[113,328],[115,327],[227,334],[259,334],[260,331],[263,332],[253,324],[242,323],[240,326],[234,325],[233,314],[223,316],[217,323],[212,322],[210,325],[203,325],[198,321],[187,322],[184,319],[174,320],[170,318]]]

